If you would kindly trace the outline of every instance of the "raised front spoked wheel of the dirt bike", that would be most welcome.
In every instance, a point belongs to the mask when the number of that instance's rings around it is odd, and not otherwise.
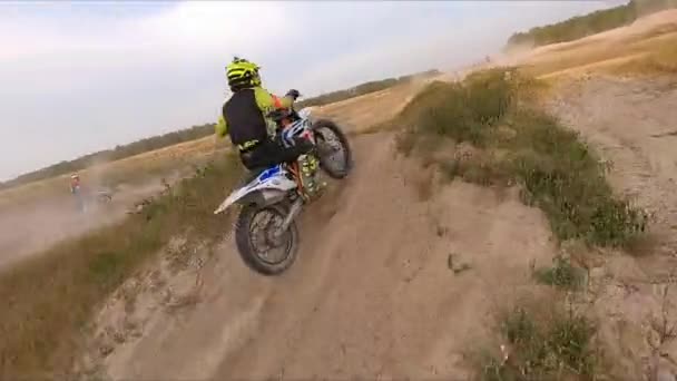
[[[333,178],[347,176],[352,165],[352,152],[343,131],[331,120],[317,120],[313,125],[317,141],[320,166]]]

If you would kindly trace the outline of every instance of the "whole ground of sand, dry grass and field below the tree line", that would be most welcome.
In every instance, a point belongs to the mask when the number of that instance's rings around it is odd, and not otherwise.
[[[227,144],[87,169],[165,192],[3,267],[1,373],[674,380],[676,33],[659,12],[494,62],[514,70],[315,107],[356,166],[274,279],[242,263],[234,215],[210,214],[239,176]],[[0,218],[67,186],[8,189]]]

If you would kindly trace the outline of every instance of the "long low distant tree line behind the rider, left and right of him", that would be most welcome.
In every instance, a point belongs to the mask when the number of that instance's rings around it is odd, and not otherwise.
[[[439,70],[428,70],[410,76],[402,76],[399,78],[387,78],[383,80],[365,82],[346,90],[333,91],[314,98],[308,98],[306,100],[300,101],[297,107],[301,108],[307,106],[322,106],[356,97],[360,95],[383,90],[399,84],[408,82],[414,77],[429,77],[439,74],[441,74]],[[173,146],[179,143],[199,139],[214,134],[214,127],[215,124],[193,126],[190,128],[180,129],[174,133],[140,139],[122,146],[118,145],[114,149],[106,149],[94,154],[88,154],[85,156],[80,156],[73,160],[63,160],[45,168],[20,175],[11,180],[0,183],[0,189],[6,189],[21,184],[37,182],[40,179],[50,178],[68,173],[73,173],[87,168],[96,163],[118,160],[146,152]]]

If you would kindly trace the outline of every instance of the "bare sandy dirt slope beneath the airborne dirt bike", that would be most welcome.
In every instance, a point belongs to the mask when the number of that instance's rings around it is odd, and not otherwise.
[[[490,311],[531,283],[532,261],[553,255],[543,216],[512,193],[460,182],[428,198],[432,173],[395,158],[392,135],[354,146],[354,174],[303,215],[302,250],[287,273],[253,273],[228,238],[199,272],[196,304],[167,310],[147,291],[137,318],[120,318],[115,302],[101,312],[110,331],[124,332],[116,320],[140,326],[102,360],[105,372],[146,380],[467,374],[467,350],[475,346],[468,343],[487,340]],[[469,268],[452,271],[450,255],[453,268]],[[174,276],[168,286],[176,282],[195,279]]]

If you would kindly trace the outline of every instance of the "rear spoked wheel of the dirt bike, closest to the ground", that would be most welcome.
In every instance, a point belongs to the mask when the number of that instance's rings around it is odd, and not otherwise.
[[[264,275],[277,275],[296,261],[298,232],[296,224],[278,234],[286,211],[278,205],[242,208],[235,226],[235,242],[243,261]]]

